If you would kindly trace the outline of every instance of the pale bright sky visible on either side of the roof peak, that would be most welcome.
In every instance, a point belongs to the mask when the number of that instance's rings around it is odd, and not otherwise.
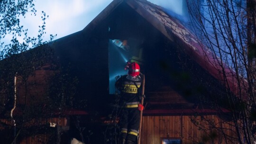
[[[148,1],[182,13],[179,9],[182,0]],[[44,40],[48,40],[50,34],[57,34],[55,39],[58,39],[82,30],[111,2],[112,0],[35,0],[37,16],[27,14],[26,18],[21,18],[21,25],[28,29],[28,36],[37,36],[38,26],[42,25],[41,11],[45,11],[49,17],[46,19]]]

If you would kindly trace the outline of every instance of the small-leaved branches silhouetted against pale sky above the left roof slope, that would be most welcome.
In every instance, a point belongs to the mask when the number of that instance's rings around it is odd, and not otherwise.
[[[43,41],[46,29],[46,13],[42,11],[42,25],[39,26],[37,37],[27,36],[28,29],[20,25],[20,18],[26,18],[26,14],[36,16],[33,0],[1,0],[0,1],[0,60],[13,54],[19,54],[29,49],[51,42],[56,35],[50,35],[49,41]],[[10,42],[5,44],[3,38],[11,35]],[[23,39],[20,42],[18,39]]]

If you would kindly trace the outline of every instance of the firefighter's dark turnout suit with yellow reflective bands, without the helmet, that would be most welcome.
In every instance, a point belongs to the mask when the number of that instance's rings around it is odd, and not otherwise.
[[[120,117],[121,138],[136,141],[139,128],[139,95],[141,79],[136,81],[127,79],[128,75],[121,76],[116,82],[120,91],[122,113]]]

